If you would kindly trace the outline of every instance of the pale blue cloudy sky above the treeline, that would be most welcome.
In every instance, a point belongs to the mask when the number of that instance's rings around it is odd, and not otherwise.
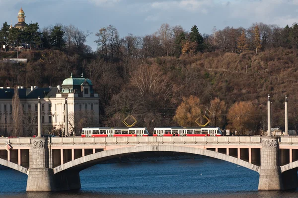
[[[124,37],[152,34],[162,23],[186,31],[196,24],[201,34],[211,34],[214,26],[247,28],[263,22],[284,27],[298,22],[298,0],[0,0],[0,23],[17,23],[20,7],[25,22],[38,22],[41,29],[62,23],[92,32],[86,44],[93,50],[95,33],[108,25]]]

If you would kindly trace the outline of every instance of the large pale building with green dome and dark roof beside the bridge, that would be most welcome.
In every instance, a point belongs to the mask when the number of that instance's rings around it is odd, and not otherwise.
[[[79,133],[81,122],[98,124],[99,97],[93,92],[93,85],[89,79],[73,77],[65,79],[56,88],[29,89],[18,87],[20,103],[23,108],[22,131],[19,135],[37,134],[37,103],[41,99],[42,134],[59,133],[72,135]],[[0,135],[12,133],[12,98],[14,89],[0,87]],[[65,132],[65,101],[68,104],[69,131]]]

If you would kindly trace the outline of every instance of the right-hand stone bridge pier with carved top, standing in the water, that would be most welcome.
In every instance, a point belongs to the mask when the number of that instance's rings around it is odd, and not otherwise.
[[[278,137],[262,137],[260,191],[284,190],[279,159]]]

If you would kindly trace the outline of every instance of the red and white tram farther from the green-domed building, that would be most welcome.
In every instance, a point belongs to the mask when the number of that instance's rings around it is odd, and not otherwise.
[[[153,136],[222,136],[220,127],[156,127]]]

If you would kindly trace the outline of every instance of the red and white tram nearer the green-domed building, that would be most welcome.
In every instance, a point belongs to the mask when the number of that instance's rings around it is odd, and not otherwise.
[[[82,137],[134,137],[149,136],[146,127],[88,127],[82,128]]]

